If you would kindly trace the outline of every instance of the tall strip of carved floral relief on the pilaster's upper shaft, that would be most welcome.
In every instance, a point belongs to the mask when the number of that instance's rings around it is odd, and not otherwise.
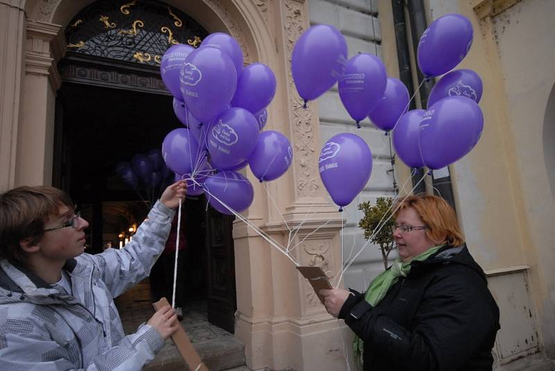
[[[291,55],[296,41],[305,31],[304,6],[294,0],[284,1],[285,14],[285,37],[287,50],[287,76],[289,81],[289,92],[291,92],[291,110],[293,114],[293,147],[295,149],[295,167],[298,174],[296,188],[301,197],[314,197],[318,193],[320,184],[315,175],[318,174],[316,164],[317,140],[312,128],[312,114],[310,107],[303,108],[302,99],[297,93],[293,74],[291,73]]]

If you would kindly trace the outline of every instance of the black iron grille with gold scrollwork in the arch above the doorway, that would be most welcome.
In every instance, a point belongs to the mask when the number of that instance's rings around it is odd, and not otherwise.
[[[198,47],[206,35],[185,13],[153,0],[96,1],[65,29],[69,51],[155,66],[170,46]]]

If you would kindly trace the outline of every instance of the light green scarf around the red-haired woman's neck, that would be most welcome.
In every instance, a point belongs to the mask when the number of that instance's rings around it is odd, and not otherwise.
[[[430,255],[437,252],[439,249],[443,248],[443,245],[434,246],[433,248],[429,248],[422,254],[413,257],[409,261],[401,261],[399,257],[395,259],[393,265],[384,270],[384,272],[377,275],[372,282],[370,282],[370,286],[368,286],[368,290],[366,290],[366,295],[364,295],[364,299],[375,307],[379,302],[382,301],[384,296],[386,295],[387,291],[393,286],[396,282],[398,282],[399,277],[407,277],[409,272],[411,271],[411,261],[423,261],[429,258]],[[364,350],[362,340],[355,335],[355,339],[352,343],[352,350],[355,352],[355,362],[357,365],[362,364],[362,352]],[[359,367],[360,369],[360,367]]]

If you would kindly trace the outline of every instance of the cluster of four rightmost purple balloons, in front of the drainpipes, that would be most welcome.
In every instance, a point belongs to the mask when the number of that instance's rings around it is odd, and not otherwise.
[[[458,14],[434,21],[418,44],[418,67],[425,76],[443,75],[428,97],[427,110],[402,114],[393,130],[393,146],[412,168],[441,169],[474,148],[484,129],[478,103],[481,79],[470,69],[456,69],[472,45],[472,24]]]

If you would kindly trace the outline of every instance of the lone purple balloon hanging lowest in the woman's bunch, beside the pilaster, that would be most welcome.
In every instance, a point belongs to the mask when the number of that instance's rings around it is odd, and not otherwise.
[[[325,143],[318,162],[324,187],[340,207],[355,199],[372,173],[368,144],[358,135],[347,132],[334,135]]]

